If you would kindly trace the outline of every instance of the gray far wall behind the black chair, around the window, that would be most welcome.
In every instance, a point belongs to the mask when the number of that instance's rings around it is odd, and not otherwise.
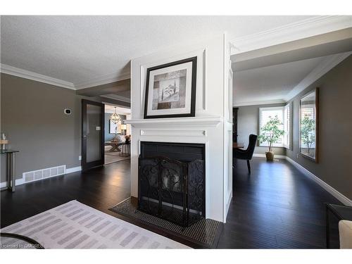
[[[284,106],[285,103],[276,104],[262,104],[259,106],[240,106],[237,115],[237,131],[238,131],[238,142],[244,142],[244,146],[248,146],[248,140],[250,134],[259,134],[259,108],[260,107],[272,107],[272,106]],[[259,144],[259,142],[258,142]],[[256,146],[254,153],[265,154],[268,151],[266,146]],[[274,148],[276,155],[285,155],[286,149]]]

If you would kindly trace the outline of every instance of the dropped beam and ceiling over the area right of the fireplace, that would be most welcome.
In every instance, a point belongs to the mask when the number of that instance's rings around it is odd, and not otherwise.
[[[351,51],[352,27],[234,55],[233,106],[289,101]]]

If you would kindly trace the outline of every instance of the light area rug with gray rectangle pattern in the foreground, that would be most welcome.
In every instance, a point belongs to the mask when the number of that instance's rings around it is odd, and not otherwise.
[[[187,249],[188,246],[102,213],[78,201],[46,210],[1,232],[30,237],[45,249]],[[2,248],[16,239],[1,238]]]

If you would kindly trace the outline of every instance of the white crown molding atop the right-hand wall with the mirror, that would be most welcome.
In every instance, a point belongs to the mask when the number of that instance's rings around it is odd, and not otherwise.
[[[310,84],[313,84],[316,80],[318,80],[322,75],[325,75],[329,70],[334,68],[337,64],[341,63],[341,61],[344,61],[345,58],[350,56],[352,52],[344,52],[343,54],[335,54],[335,55],[330,55],[327,58],[325,58],[322,63],[320,63],[316,68],[314,68],[306,77],[299,82],[294,89],[287,94],[287,96],[284,97],[285,101],[290,101],[291,99],[294,98],[297,94],[303,92],[304,89],[306,89]]]

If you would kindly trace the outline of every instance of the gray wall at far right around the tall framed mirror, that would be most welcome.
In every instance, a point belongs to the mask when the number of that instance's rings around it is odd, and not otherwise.
[[[299,156],[299,99],[319,87],[319,161]],[[352,199],[352,56],[320,77],[292,99],[294,104],[293,149],[287,156]]]

